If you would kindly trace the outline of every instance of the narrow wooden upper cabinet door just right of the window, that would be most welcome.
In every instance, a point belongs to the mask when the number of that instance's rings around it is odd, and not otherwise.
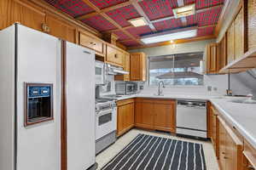
[[[217,43],[207,45],[207,74],[217,72]]]

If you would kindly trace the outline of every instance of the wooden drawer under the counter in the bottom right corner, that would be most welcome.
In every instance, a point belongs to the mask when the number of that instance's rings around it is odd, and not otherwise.
[[[249,165],[254,169],[256,169],[256,149],[253,148],[253,146],[249,144],[246,140],[244,141],[244,150],[242,154],[243,156],[246,157],[247,161],[249,162]],[[253,170],[253,168],[245,168],[245,169]]]

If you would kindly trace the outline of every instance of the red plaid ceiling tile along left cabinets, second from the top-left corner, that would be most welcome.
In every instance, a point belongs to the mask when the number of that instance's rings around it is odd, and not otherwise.
[[[108,31],[116,29],[115,26],[101,15],[92,16],[88,19],[82,20],[85,24],[95,28],[98,31]]]

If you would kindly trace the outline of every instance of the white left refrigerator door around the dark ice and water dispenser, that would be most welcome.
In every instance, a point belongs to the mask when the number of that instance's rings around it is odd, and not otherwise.
[[[60,170],[60,40],[26,26],[17,32],[17,170]],[[25,82],[53,84],[53,121],[24,126]]]

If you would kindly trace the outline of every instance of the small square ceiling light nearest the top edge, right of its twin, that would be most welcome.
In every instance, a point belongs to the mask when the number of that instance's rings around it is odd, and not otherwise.
[[[195,3],[187,6],[183,6],[180,8],[174,8],[172,11],[175,18],[180,18],[180,17],[189,16],[191,14],[195,14]]]

